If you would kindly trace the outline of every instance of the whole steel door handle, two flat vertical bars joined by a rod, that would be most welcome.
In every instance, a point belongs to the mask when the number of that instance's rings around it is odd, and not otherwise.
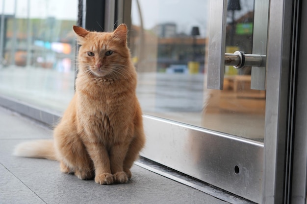
[[[225,54],[227,0],[211,0],[207,88],[223,89],[225,65],[252,67],[251,89],[265,90],[268,0],[255,0],[253,54]]]

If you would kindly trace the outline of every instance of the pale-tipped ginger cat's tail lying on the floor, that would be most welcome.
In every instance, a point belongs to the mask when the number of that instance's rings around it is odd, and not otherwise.
[[[56,159],[52,139],[23,142],[16,146],[13,155],[18,157],[58,160]]]

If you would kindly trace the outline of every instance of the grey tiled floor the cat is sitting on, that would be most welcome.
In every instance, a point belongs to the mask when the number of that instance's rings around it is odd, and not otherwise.
[[[51,135],[0,107],[0,204],[226,204],[137,165],[127,184],[99,185],[62,174],[57,161],[12,156],[16,144]]]

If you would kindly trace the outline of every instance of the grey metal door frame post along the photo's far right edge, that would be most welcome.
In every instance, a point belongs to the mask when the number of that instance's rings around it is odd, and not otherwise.
[[[291,204],[307,203],[307,2],[297,1],[299,12],[297,19],[297,39],[294,62],[294,103],[293,131],[291,139],[291,159],[289,168],[287,202]]]

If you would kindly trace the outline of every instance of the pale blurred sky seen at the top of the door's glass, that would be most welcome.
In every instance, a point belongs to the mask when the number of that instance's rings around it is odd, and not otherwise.
[[[190,34],[193,26],[200,28],[201,36],[207,36],[210,0],[139,0],[143,26],[152,29],[159,23],[176,23],[178,33]],[[240,0],[241,11],[235,19],[253,10],[254,0]],[[140,25],[136,0],[132,0],[132,23]]]

